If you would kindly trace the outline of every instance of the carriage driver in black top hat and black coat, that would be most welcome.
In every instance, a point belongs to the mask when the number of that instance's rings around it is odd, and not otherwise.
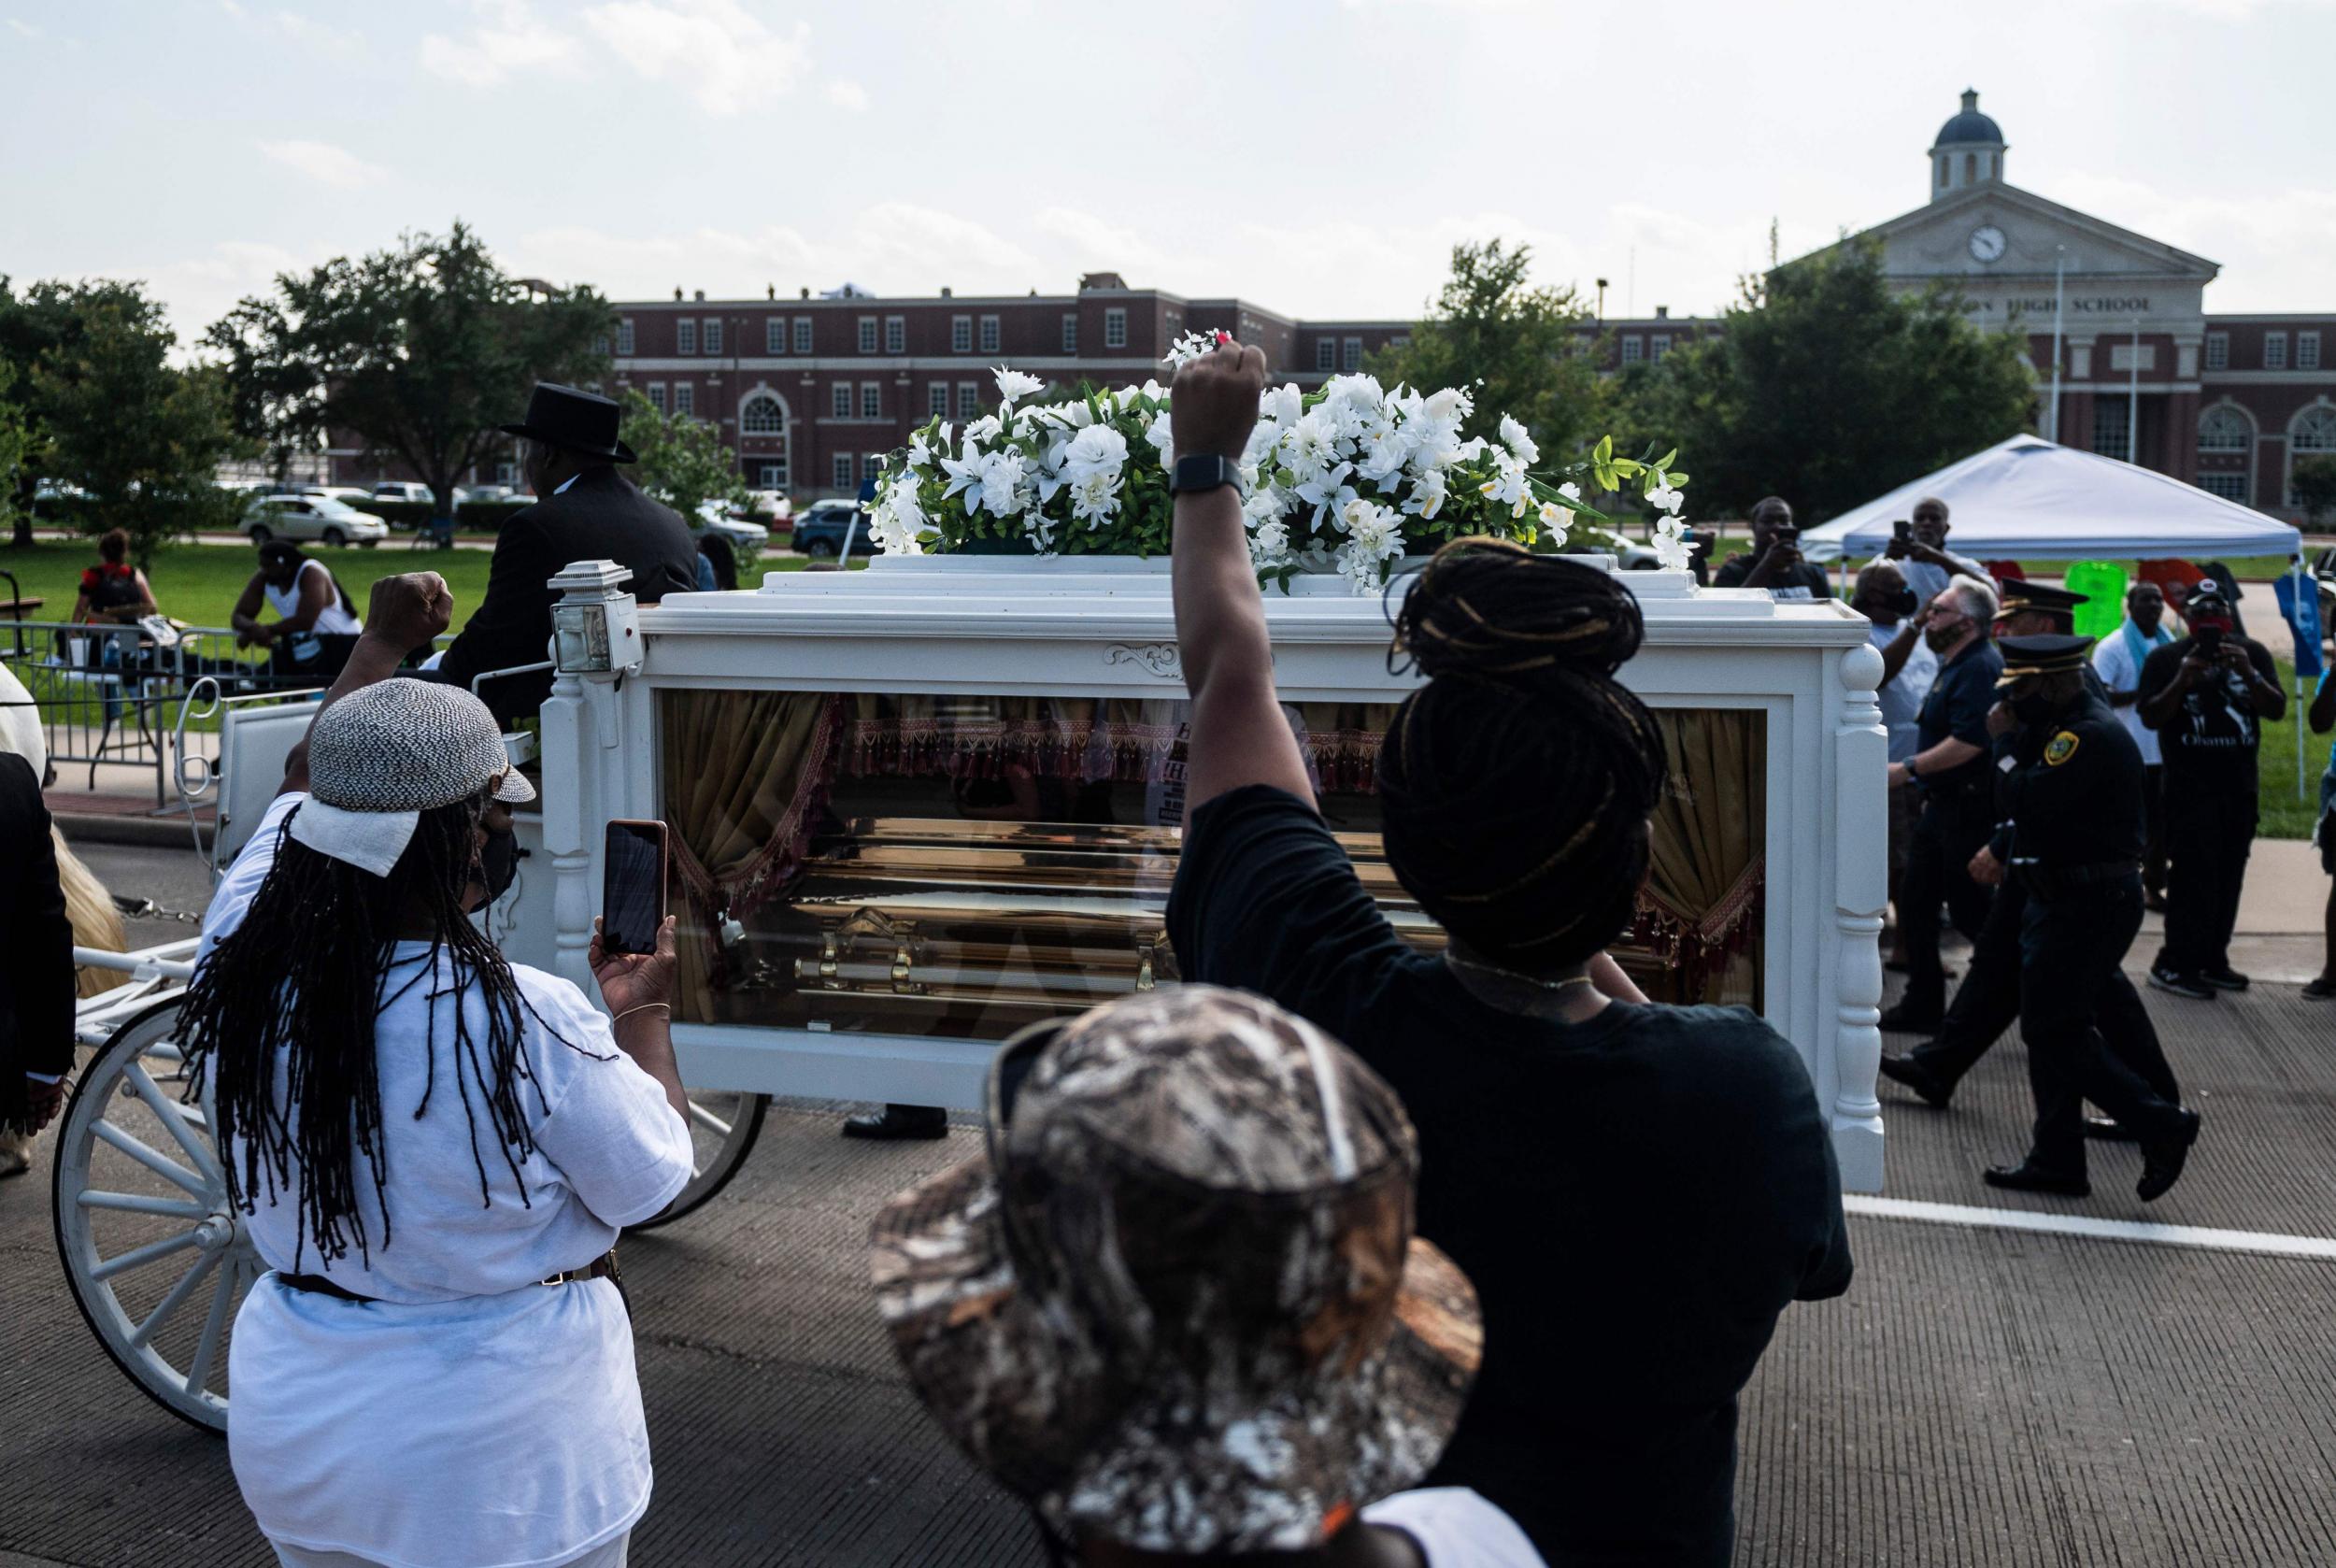
[[[437,678],[467,687],[486,671],[540,664],[551,643],[547,582],[570,561],[633,568],[633,598],[654,605],[698,587],[698,547],[689,528],[617,472],[633,449],[617,439],[617,404],[572,386],[535,383],[528,418],[502,425],[521,439],[521,472],[537,502],[502,523],[486,598],[439,661]],[[551,675],[505,675],[479,699],[509,729],[551,694]]]

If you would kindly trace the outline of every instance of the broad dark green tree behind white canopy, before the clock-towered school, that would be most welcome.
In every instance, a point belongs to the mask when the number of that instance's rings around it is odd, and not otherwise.
[[[1624,442],[1677,446],[1694,516],[1782,495],[1822,521],[2023,430],[2021,339],[1981,332],[1948,287],[1899,294],[1880,248],[1845,241],[1747,278],[1719,332],[1624,390]]]

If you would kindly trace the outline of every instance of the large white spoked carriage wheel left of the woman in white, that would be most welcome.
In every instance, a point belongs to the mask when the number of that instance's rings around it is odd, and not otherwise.
[[[187,1105],[178,1002],[131,1017],[82,1073],[56,1138],[56,1255],[105,1353],[182,1421],[227,1430],[227,1339],[266,1264]]]

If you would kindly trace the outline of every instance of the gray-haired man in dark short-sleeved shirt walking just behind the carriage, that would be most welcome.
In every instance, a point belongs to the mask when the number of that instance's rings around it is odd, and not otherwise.
[[[1946,1010],[1939,904],[1948,904],[1955,930],[1974,942],[1988,916],[1988,890],[1972,881],[1969,865],[1995,830],[1988,710],[2004,661],[1988,636],[1993,619],[1995,589],[1969,577],[1958,577],[1923,612],[1923,643],[1939,657],[1939,673],[1916,715],[1920,750],[1890,764],[1892,790],[1911,785],[1923,792],[1923,816],[1916,818],[1899,883],[1906,995],[1880,1019],[1890,1031],[1937,1028]]]

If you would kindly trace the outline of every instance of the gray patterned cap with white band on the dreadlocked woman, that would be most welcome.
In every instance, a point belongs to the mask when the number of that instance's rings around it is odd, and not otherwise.
[[[486,703],[434,680],[378,680],[308,727],[308,802],[290,832],[318,853],[388,876],[423,811],[470,799],[488,783],[500,802],[535,799]]]

